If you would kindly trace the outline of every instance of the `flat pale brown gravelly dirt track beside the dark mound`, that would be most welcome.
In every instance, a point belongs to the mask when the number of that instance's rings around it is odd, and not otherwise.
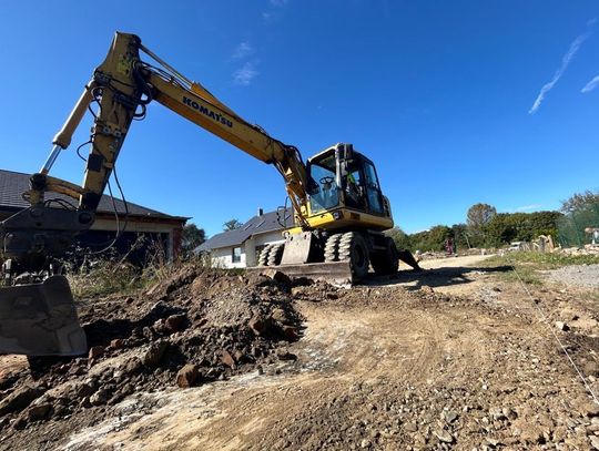
[[[296,360],[132,394],[47,447],[599,448],[599,406],[551,334],[554,321],[568,321],[557,335],[597,391],[597,298],[549,285],[531,300],[497,277],[508,268],[477,267],[483,258],[425,262],[436,269],[322,296],[297,290]]]

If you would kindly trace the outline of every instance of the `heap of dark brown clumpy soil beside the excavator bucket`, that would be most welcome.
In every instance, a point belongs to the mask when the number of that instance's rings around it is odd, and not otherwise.
[[[89,422],[138,391],[203,385],[292,359],[276,352],[301,334],[290,293],[285,280],[186,267],[145,294],[82,303],[89,356],[35,358],[31,368],[4,371],[0,428],[39,428],[75,413]]]

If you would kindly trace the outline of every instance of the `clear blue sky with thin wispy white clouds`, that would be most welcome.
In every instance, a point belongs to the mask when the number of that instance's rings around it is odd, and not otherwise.
[[[115,31],[304,157],[353,143],[396,225],[559,208],[599,188],[597,1],[2,2],[0,167],[39,171]],[[81,183],[87,119],[51,175]],[[285,203],[273,166],[160,104],[134,122],[126,199],[212,236]]]

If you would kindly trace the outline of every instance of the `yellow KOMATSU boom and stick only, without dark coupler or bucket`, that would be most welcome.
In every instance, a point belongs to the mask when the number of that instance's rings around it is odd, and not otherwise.
[[[140,51],[154,60],[140,59]],[[45,175],[61,150],[67,148],[83,115],[95,102],[94,127],[83,186],[47,176],[43,189],[32,189],[32,204],[43,201],[43,191],[79,197],[79,207],[94,211],[119,156],[131,122],[145,114],[145,105],[158,101],[179,115],[227,141],[253,157],[274,164],[285,186],[298,225],[307,227],[306,167],[296,147],[270,136],[220,102],[199,83],[187,80],[153,52],[134,34],[116,33],[105,61],[94,71],[79,102],[62,130],[54,136],[54,148],[41,170]]]

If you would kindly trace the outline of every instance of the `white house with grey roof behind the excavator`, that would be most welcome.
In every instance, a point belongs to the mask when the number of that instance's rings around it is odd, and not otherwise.
[[[199,246],[196,253],[210,253],[214,267],[245,268],[256,266],[261,250],[268,244],[283,243],[283,230],[293,226],[291,209],[263,213],[234,230],[214,235]]]

